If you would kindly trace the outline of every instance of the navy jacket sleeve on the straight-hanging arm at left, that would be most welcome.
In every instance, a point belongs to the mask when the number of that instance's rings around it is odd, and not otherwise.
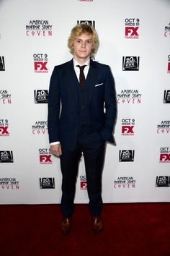
[[[48,97],[48,134],[49,142],[59,141],[58,123],[61,108],[61,97],[59,90],[57,67],[54,67],[50,77],[50,88]]]

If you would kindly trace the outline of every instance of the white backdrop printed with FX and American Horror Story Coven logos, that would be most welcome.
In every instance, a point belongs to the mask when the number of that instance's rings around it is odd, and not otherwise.
[[[0,1],[0,203],[59,203],[61,170],[49,152],[48,88],[69,61],[71,28],[99,34],[94,60],[117,91],[116,145],[107,144],[104,202],[170,201],[170,1]],[[69,108],[69,106],[68,106]],[[88,202],[82,156],[75,202]]]

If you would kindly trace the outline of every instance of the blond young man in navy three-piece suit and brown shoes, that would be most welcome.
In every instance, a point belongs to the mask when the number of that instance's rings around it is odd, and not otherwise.
[[[99,234],[103,227],[102,168],[105,142],[114,142],[116,99],[109,66],[91,60],[98,47],[94,28],[76,25],[68,38],[73,59],[55,66],[50,79],[48,132],[50,152],[61,161],[63,234],[71,231],[76,176],[82,153],[92,228]]]

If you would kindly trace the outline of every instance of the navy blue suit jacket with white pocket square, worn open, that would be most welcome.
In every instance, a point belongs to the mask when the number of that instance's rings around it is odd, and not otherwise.
[[[84,86],[86,83],[89,84],[89,113],[94,130],[103,140],[113,143],[117,107],[115,82],[109,66],[91,60]],[[60,141],[68,150],[76,148],[79,131],[77,86],[80,85],[73,60],[54,67],[48,98],[49,140]]]

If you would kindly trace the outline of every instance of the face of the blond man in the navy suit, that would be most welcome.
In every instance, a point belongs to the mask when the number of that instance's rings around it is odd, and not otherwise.
[[[91,55],[92,35],[82,34],[73,40],[73,56],[77,61],[86,62]]]

